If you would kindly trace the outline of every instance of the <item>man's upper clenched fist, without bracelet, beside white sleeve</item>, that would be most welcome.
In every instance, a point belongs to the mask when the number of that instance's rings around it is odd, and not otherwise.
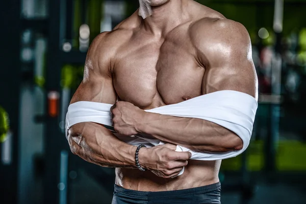
[[[118,101],[111,107],[114,130],[123,135],[138,134],[137,124],[145,111],[129,102]]]

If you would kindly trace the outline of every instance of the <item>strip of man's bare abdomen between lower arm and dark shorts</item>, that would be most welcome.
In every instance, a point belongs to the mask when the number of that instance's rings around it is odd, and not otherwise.
[[[182,175],[162,178],[151,171],[116,168],[115,184],[135,191],[173,191],[207,186],[219,182],[219,161],[189,160]]]

